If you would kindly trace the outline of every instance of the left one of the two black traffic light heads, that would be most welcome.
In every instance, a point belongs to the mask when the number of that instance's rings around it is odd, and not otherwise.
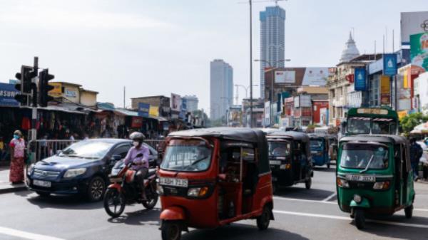
[[[16,78],[21,80],[20,83],[15,85],[16,90],[21,93],[15,95],[15,99],[21,103],[21,105],[28,105],[28,95],[31,90],[36,90],[35,83],[31,81],[32,78],[36,77],[37,69],[31,66],[21,66],[21,73],[16,73]],[[36,94],[36,93],[34,93]]]

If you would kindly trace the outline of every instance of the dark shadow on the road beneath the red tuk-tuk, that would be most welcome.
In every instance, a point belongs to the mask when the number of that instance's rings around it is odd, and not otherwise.
[[[217,239],[269,239],[269,240],[307,240],[307,238],[285,231],[282,229],[269,228],[265,231],[259,231],[254,225],[247,224],[230,224],[229,226],[221,226],[217,229],[192,229],[189,233],[183,232],[181,237],[183,240],[217,240]]]

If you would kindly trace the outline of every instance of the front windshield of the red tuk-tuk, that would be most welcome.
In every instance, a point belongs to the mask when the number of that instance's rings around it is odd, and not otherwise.
[[[210,167],[211,148],[203,140],[171,140],[161,169],[201,172]]]

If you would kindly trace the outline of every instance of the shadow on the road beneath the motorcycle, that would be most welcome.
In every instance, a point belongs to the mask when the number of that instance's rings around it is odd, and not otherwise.
[[[142,206],[141,206],[142,207]],[[126,210],[126,209],[125,209]],[[126,212],[115,219],[110,218],[112,224],[128,224],[138,226],[159,226],[160,209],[141,209],[137,212]]]

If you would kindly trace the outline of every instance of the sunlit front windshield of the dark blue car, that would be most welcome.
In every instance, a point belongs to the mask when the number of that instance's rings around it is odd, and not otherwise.
[[[86,159],[100,159],[106,156],[113,143],[111,142],[95,142],[81,141],[70,145],[63,150],[60,157],[80,157]]]

